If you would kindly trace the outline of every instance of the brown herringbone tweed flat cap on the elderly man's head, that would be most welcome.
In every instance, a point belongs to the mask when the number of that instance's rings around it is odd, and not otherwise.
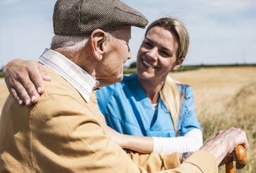
[[[144,28],[148,20],[119,0],[58,0],[53,29],[60,36],[90,36],[95,29],[114,31],[125,26]]]

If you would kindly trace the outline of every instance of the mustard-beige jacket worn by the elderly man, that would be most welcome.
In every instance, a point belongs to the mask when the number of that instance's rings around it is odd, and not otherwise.
[[[47,72],[52,80],[39,103],[26,107],[11,96],[6,100],[0,172],[217,172],[216,158],[206,151],[182,165],[178,153],[126,153],[109,139],[95,91],[86,103],[55,70]]]

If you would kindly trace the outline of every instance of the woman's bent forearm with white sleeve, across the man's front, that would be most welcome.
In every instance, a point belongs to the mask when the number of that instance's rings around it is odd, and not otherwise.
[[[108,127],[109,128],[109,127]],[[122,148],[140,153],[173,153],[196,151],[203,145],[203,135],[197,128],[189,131],[183,137],[142,137],[123,135],[109,128],[109,134]]]

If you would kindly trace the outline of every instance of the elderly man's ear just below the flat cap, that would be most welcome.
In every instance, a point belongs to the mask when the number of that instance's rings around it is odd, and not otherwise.
[[[93,52],[93,56],[97,61],[101,61],[103,54],[105,53],[105,41],[107,40],[107,33],[101,29],[95,29],[90,34],[90,47]]]

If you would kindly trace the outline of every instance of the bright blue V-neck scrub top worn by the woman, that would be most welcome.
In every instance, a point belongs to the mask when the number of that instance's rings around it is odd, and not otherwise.
[[[180,85],[186,99],[182,105],[182,116],[178,123],[179,135],[183,136],[193,128],[201,130],[194,110],[193,91]],[[183,91],[182,91],[183,90]],[[149,98],[137,81],[137,74],[124,76],[123,81],[100,88],[96,93],[100,111],[107,125],[119,133],[148,137],[175,137],[170,113],[159,98],[155,113]]]

